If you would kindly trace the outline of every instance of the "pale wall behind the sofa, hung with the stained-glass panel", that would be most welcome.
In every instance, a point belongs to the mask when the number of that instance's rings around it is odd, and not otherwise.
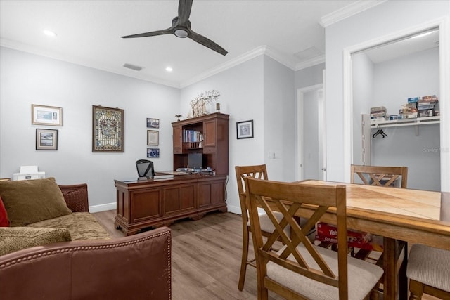
[[[0,65],[1,178],[37,165],[59,184],[88,183],[91,206],[115,209],[114,179],[137,178],[135,162],[146,158],[147,117],[160,119],[155,169],[172,169],[179,89],[4,47]],[[63,107],[63,126],[32,125],[32,104]],[[91,151],[92,105],[124,109],[123,153]],[[58,150],[35,150],[37,128],[58,129]]]

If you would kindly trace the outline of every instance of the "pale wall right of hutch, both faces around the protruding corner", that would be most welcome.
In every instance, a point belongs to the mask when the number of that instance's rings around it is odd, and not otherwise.
[[[220,92],[221,112],[229,121],[229,181],[226,203],[240,214],[235,166],[266,164],[269,178],[295,180],[295,89],[294,72],[267,56],[258,56],[215,74],[181,91],[182,114],[199,93]],[[236,122],[253,120],[254,138],[238,140]],[[269,159],[269,151],[276,159]]]

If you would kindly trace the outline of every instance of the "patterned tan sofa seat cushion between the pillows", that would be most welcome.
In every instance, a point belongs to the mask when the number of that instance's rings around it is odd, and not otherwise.
[[[27,225],[35,228],[60,228],[64,227],[70,231],[72,240],[107,240],[110,235],[98,223],[96,217],[89,212],[74,212],[66,216],[58,216],[49,220],[40,221]]]

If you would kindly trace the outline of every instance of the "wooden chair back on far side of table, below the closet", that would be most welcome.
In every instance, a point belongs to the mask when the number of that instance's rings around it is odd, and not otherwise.
[[[394,186],[396,181],[400,179],[399,187],[406,188],[408,167],[360,166],[352,164],[350,167],[350,183],[355,183],[354,178],[356,175],[365,185]]]

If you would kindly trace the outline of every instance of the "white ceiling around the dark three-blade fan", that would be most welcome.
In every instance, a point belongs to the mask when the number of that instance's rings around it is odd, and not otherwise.
[[[1,0],[0,45],[183,87],[263,52],[293,70],[323,61],[320,23],[381,2],[194,0],[191,28],[229,52],[222,56],[173,34],[120,38],[170,27],[178,14],[177,0]],[[58,35],[50,38],[43,30]],[[143,69],[129,70],[125,63]],[[167,66],[173,72],[165,71]]]

